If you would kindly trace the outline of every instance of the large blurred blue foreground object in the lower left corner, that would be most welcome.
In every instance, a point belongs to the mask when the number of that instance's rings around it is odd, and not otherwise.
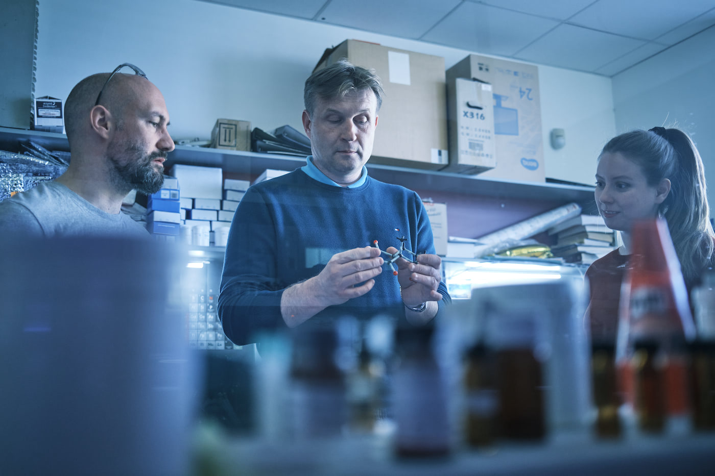
[[[196,372],[177,250],[57,238],[0,249],[0,474],[186,474]]]

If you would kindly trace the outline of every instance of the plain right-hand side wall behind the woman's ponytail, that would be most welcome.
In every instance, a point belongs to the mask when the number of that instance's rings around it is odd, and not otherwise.
[[[715,187],[715,27],[613,76],[618,133],[654,126],[688,132]],[[715,200],[709,194],[711,210]],[[711,212],[712,213],[712,212]]]

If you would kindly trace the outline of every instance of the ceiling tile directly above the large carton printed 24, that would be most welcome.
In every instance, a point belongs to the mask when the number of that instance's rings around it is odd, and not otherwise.
[[[557,21],[465,1],[421,39],[511,56],[556,25]]]

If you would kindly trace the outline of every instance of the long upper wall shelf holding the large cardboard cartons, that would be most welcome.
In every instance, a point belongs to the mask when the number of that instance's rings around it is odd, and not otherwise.
[[[24,140],[32,140],[47,149],[69,150],[69,144],[64,134],[0,127],[0,147],[14,150],[17,142]],[[280,154],[177,146],[174,152],[169,154],[167,160],[167,167],[172,164],[221,167],[225,172],[259,175],[265,169],[297,169],[305,164],[305,159]],[[368,171],[370,176],[375,179],[403,185],[409,189],[481,197],[576,202],[582,205],[593,202],[593,187],[490,179],[449,172],[370,164],[370,162],[368,162]]]

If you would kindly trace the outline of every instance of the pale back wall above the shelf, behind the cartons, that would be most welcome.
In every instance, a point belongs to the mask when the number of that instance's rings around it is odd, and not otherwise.
[[[302,130],[302,86],[323,50],[347,38],[444,56],[470,51],[194,0],[43,0],[36,95],[66,98],[84,76],[134,63],[159,86],[174,139],[208,137],[217,118]],[[613,136],[611,80],[540,67],[547,177],[593,182],[598,147]],[[389,99],[388,99],[389,100]],[[548,132],[566,129],[553,151]]]

